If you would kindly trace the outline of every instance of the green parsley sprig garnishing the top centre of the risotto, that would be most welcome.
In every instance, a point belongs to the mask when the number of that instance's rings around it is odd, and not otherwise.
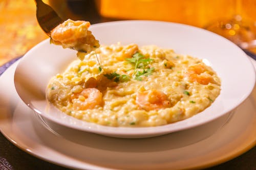
[[[134,74],[133,78],[135,80],[142,80],[142,76],[150,76],[152,75],[152,72],[155,70],[155,68],[147,67],[148,64],[150,64],[153,59],[146,58],[141,53],[135,53],[132,58],[126,58],[126,61],[132,65],[134,65]]]

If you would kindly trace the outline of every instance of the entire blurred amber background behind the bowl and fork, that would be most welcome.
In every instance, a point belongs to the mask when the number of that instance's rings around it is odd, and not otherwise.
[[[93,23],[150,19],[216,32],[256,53],[255,0],[45,0],[62,19]],[[0,66],[47,39],[33,0],[0,0]]]

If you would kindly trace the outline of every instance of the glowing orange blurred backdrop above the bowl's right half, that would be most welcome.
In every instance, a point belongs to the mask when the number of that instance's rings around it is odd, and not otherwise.
[[[185,23],[216,32],[240,46],[256,52],[255,0],[101,0],[99,12],[117,19],[150,19]],[[232,25],[227,20],[240,17]],[[239,18],[238,18],[239,19]],[[250,26],[249,26],[250,25]],[[250,44],[241,42],[250,41]],[[247,44],[247,46],[246,46]]]

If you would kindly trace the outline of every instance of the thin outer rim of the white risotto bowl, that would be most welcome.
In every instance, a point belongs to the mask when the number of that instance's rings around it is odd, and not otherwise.
[[[173,22],[166,22],[166,21],[153,21],[153,20],[124,20],[123,21],[123,20],[121,20],[121,21],[96,23],[96,24],[92,25],[90,28],[95,29],[95,28],[100,28],[102,26],[105,27],[105,26],[123,25],[123,24],[136,24],[136,23],[138,23],[138,24],[149,23],[149,24],[153,24],[153,25],[163,24],[163,25],[173,25],[173,26],[176,26],[176,27],[186,27],[188,29],[196,29],[196,30],[206,32],[207,34],[212,34],[214,36],[218,36],[223,41],[228,41],[228,43],[233,44],[231,41],[227,40],[226,38],[221,37],[220,35],[217,35],[215,33],[209,32],[207,30],[197,28],[197,27],[194,27],[194,26],[184,25],[182,23],[173,23]],[[16,80],[17,80],[16,79],[17,78],[17,71],[19,70],[20,63],[26,61],[27,56],[30,56],[30,54],[32,52],[38,50],[38,48],[40,49],[41,46],[44,46],[44,45],[47,45],[47,44],[49,44],[49,39],[46,39],[46,40],[38,43],[27,54],[25,54],[25,56],[22,59],[20,59],[20,61],[18,63],[18,66],[15,70],[14,82],[16,82]],[[239,50],[240,48],[237,47],[237,49]],[[241,50],[241,52],[245,56],[247,56],[242,50]],[[248,60],[248,62],[250,62],[250,60],[248,58],[244,59],[244,60]],[[249,94],[252,92],[252,90],[254,88],[254,85],[255,85],[255,71],[254,71],[254,67],[253,67],[251,62],[250,62],[250,64],[251,64],[251,68],[253,69],[253,75],[254,75],[253,78],[252,78],[252,81],[251,81],[252,83],[250,84],[250,87],[247,89],[247,93],[245,93],[242,96],[242,98],[239,101],[237,101],[237,104],[234,104],[233,107],[230,107],[228,110],[226,110],[222,114],[218,114],[214,118],[207,119],[207,120],[204,120],[204,121],[201,121],[201,122],[198,122],[198,123],[194,123],[194,124],[188,124],[183,128],[173,127],[173,126],[175,124],[179,124],[181,121],[184,121],[184,120],[180,120],[179,122],[176,122],[176,123],[157,126],[157,127],[108,127],[108,126],[98,125],[98,124],[94,124],[94,123],[84,122],[83,120],[79,120],[79,119],[76,119],[76,120],[83,122],[83,124],[87,124],[87,126],[86,127],[79,127],[79,126],[67,124],[67,123],[63,122],[62,120],[59,120],[56,117],[52,117],[49,114],[45,114],[44,112],[35,108],[30,102],[28,102],[27,100],[24,99],[22,94],[20,94],[20,91],[19,91],[20,87],[18,87],[16,83],[14,83],[14,84],[15,84],[15,88],[16,88],[16,91],[17,91],[18,95],[20,96],[20,98],[22,99],[22,101],[26,105],[28,105],[32,110],[34,110],[36,112],[36,114],[40,114],[42,117],[47,118],[48,120],[50,120],[54,123],[57,123],[57,124],[60,124],[62,126],[66,126],[66,127],[69,127],[69,128],[77,129],[77,130],[102,134],[102,135],[106,135],[106,136],[125,137],[125,138],[152,137],[152,136],[158,136],[158,135],[162,135],[162,134],[172,133],[172,132],[186,130],[186,129],[193,128],[193,127],[196,127],[196,126],[200,126],[200,125],[206,124],[206,123],[208,123],[212,120],[215,120],[215,119],[221,117],[222,115],[224,115],[226,113],[229,113],[230,111],[236,109],[249,96]],[[190,118],[191,117],[189,117],[187,119],[190,119]],[[172,129],[169,129],[170,126],[172,126]]]

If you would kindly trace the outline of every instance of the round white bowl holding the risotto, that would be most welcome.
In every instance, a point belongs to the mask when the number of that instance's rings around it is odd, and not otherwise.
[[[101,44],[154,44],[204,59],[221,78],[222,90],[216,101],[203,112],[169,125],[124,128],[87,123],[58,111],[46,100],[49,79],[76,59],[75,51],[50,44],[47,39],[19,61],[14,82],[20,98],[31,109],[59,125],[106,136],[158,136],[196,127],[229,113],[248,97],[254,87],[255,71],[247,55],[237,45],[206,30],[178,23],[140,20],[99,23],[92,25],[90,30]]]

